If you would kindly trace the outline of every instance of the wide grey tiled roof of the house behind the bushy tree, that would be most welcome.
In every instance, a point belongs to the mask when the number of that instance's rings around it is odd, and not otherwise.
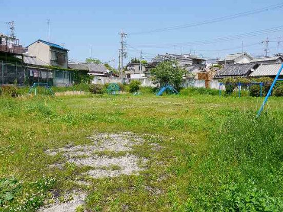
[[[163,62],[163,61],[171,61],[176,60],[179,66],[189,66],[193,65],[193,59],[186,57],[185,55],[180,54],[158,54],[156,57],[152,59],[153,63]]]

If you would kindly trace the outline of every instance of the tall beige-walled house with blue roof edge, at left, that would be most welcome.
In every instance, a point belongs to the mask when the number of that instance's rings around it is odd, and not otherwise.
[[[69,50],[41,39],[36,40],[28,46],[28,53],[44,61],[49,66],[68,68]]]

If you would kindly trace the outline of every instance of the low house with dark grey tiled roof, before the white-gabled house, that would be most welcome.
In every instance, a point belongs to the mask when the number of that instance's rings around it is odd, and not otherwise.
[[[214,79],[248,77],[257,67],[257,63],[226,65],[223,69],[216,72]]]

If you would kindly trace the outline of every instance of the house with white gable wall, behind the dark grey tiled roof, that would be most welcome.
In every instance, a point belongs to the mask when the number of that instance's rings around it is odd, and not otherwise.
[[[225,58],[218,61],[218,65],[232,65],[250,63],[253,57],[247,52],[228,54]]]

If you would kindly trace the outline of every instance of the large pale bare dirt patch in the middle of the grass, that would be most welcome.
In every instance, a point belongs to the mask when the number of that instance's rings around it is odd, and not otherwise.
[[[145,140],[132,133],[120,134],[98,133],[89,137],[93,141],[91,145],[66,146],[58,149],[47,150],[49,155],[62,154],[66,162],[74,163],[78,166],[92,166],[93,170],[86,174],[94,178],[117,177],[119,175],[138,174],[143,170],[142,165],[147,161],[145,158],[138,158],[130,155],[128,151],[133,150],[134,145],[141,145]],[[154,147],[156,147],[154,145]],[[111,157],[97,155],[97,153],[127,152],[125,156]],[[96,153],[96,154],[95,154]],[[141,166],[140,166],[140,165]],[[62,168],[62,164],[52,164],[51,167]]]

